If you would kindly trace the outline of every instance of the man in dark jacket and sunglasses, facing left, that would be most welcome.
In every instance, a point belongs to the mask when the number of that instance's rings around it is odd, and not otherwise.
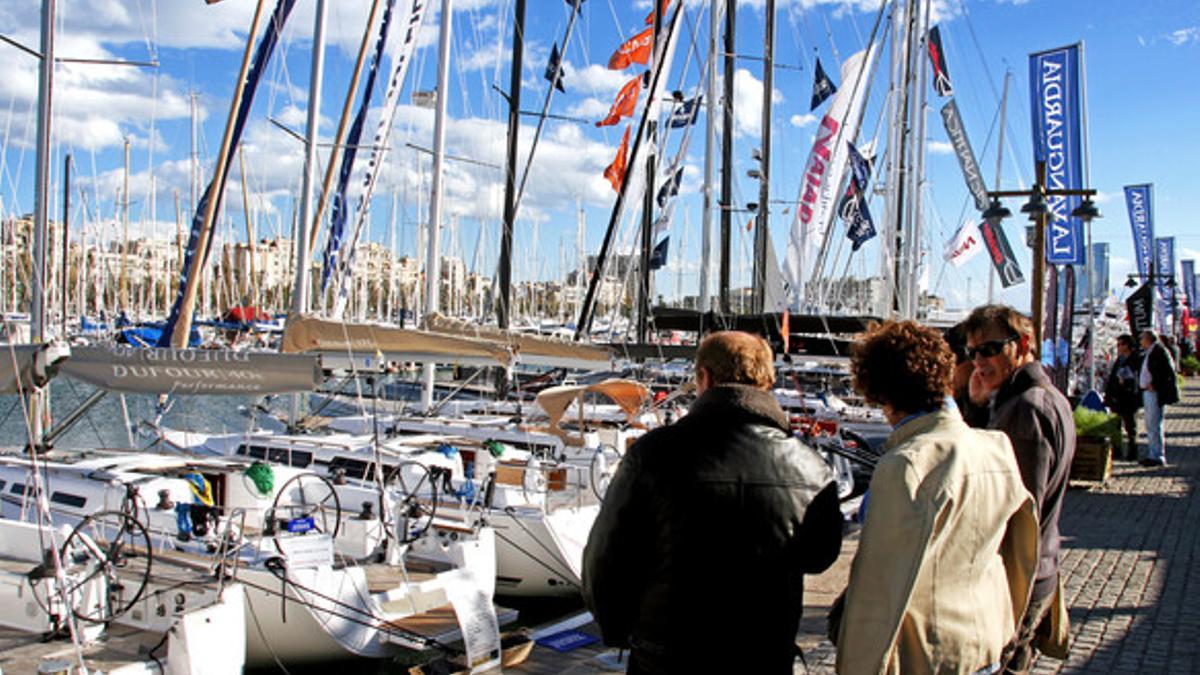
[[[974,363],[971,401],[989,406],[986,426],[1013,442],[1021,479],[1038,504],[1038,572],[1004,664],[1006,673],[1027,673],[1038,650],[1066,657],[1066,608],[1056,602],[1062,593],[1058,516],[1075,455],[1075,422],[1067,398],[1033,353],[1027,316],[1006,305],[984,305],[967,317],[966,334],[967,357]]]

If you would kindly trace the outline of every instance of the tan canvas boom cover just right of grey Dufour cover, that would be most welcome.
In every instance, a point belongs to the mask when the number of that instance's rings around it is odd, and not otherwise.
[[[382,353],[391,360],[466,363],[488,362],[509,365],[508,348],[481,340],[440,335],[425,330],[341,323],[310,316],[292,317],[283,331],[283,353],[331,352],[338,354]]]

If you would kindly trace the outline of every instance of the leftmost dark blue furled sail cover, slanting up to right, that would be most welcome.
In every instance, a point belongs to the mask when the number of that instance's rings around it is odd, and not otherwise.
[[[275,6],[275,12],[271,14],[271,20],[266,25],[266,31],[263,32],[263,40],[258,43],[258,49],[254,52],[254,61],[246,73],[246,86],[241,96],[241,102],[238,106],[238,114],[234,117],[229,151],[226,156],[217,157],[218,166],[223,166],[226,169],[217,172],[221,175],[221,184],[215,185],[215,181],[209,183],[208,187],[204,189],[204,196],[200,197],[200,203],[196,207],[196,214],[192,216],[192,229],[187,235],[187,249],[184,251],[184,267],[179,274],[179,291],[175,293],[175,301],[170,306],[167,325],[158,338],[160,347],[170,346],[170,336],[175,331],[175,324],[179,323],[179,313],[182,311],[187,285],[198,281],[191,279],[193,258],[199,253],[202,261],[209,259],[209,252],[212,250],[212,238],[209,238],[204,251],[196,250],[199,246],[200,234],[204,229],[204,214],[208,211],[209,201],[214,198],[216,199],[216,204],[212,213],[221,213],[221,199],[224,197],[224,184],[229,178],[229,165],[233,162],[234,153],[238,151],[238,145],[241,143],[241,135],[246,130],[246,119],[250,117],[250,108],[254,103],[254,91],[258,90],[258,83],[263,78],[263,72],[266,71],[266,65],[275,52],[275,44],[280,41],[280,34],[283,32],[283,25],[287,24],[288,16],[292,13],[292,7],[294,6],[295,0],[278,1]],[[214,174],[215,177],[216,174]],[[197,269],[203,269],[203,267],[202,264]]]

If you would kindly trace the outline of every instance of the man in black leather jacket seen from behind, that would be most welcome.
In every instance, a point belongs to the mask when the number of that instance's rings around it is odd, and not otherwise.
[[[828,465],[788,430],[770,347],[709,335],[698,400],[625,454],[583,554],[583,596],[629,673],[792,673],[804,574],[841,549]]]

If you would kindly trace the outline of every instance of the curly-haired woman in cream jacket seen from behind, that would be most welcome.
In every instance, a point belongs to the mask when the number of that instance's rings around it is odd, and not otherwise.
[[[954,356],[911,321],[852,347],[854,388],[893,425],[838,631],[839,673],[995,673],[1037,569],[1033,498],[1008,438],[948,399]]]

